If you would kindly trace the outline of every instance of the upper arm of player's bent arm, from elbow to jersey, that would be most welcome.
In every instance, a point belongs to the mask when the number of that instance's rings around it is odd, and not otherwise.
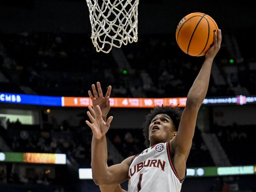
[[[128,180],[128,171],[130,168],[132,157],[126,158],[122,163],[112,165],[107,168],[108,177],[107,178],[97,178],[94,179],[97,185],[113,185],[123,183]],[[93,177],[93,175],[92,175]]]

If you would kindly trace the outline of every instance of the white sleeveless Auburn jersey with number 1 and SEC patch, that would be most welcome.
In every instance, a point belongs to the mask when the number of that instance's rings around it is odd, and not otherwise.
[[[173,166],[169,141],[134,156],[128,175],[128,192],[180,192],[185,179],[179,179]]]

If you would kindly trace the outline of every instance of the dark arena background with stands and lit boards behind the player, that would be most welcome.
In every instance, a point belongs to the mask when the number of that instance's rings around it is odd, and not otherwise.
[[[0,1],[0,191],[100,192],[88,90],[99,81],[105,95],[112,85],[108,165],[142,152],[150,106],[182,106],[204,62],[175,39],[192,12],[216,21],[222,44],[181,191],[256,191],[256,13],[237,2],[140,0],[138,42],[106,54],[92,44],[85,0]]]

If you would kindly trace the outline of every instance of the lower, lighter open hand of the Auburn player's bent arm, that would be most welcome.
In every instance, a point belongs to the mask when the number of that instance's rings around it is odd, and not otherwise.
[[[96,139],[101,139],[106,134],[106,132],[108,132],[113,116],[110,116],[105,123],[102,119],[102,113],[99,105],[96,106],[96,109],[92,109],[92,107],[89,106],[89,110],[91,113],[87,111],[87,115],[92,123],[87,120],[85,122],[87,125],[89,125],[89,127],[91,127],[92,133],[96,137]]]

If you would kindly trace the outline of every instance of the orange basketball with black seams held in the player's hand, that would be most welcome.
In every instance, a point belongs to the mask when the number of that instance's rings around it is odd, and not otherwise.
[[[180,49],[191,56],[202,56],[213,44],[216,22],[204,13],[190,13],[178,24],[176,41]]]

